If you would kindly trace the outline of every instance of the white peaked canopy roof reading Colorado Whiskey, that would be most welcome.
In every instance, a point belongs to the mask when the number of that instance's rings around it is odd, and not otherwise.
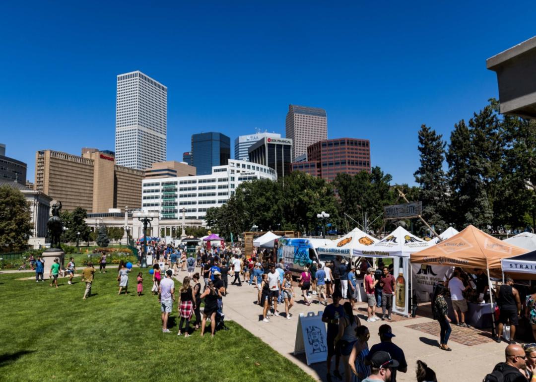
[[[381,241],[371,244],[363,250],[354,249],[353,253],[356,256],[366,257],[409,257],[410,253],[421,251],[431,245],[434,243],[424,241],[410,234],[404,228],[398,227]]]

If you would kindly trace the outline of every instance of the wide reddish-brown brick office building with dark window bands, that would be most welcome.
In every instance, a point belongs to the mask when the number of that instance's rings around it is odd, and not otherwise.
[[[292,171],[303,171],[329,182],[339,173],[370,173],[370,141],[354,138],[321,140],[307,147],[307,161],[294,162],[291,167]]]

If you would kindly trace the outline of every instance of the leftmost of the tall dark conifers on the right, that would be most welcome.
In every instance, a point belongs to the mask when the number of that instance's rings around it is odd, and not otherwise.
[[[446,175],[443,171],[445,145],[443,136],[426,125],[419,130],[420,167],[415,173],[415,182],[420,186],[422,217],[437,231],[447,227],[445,215],[448,206]]]

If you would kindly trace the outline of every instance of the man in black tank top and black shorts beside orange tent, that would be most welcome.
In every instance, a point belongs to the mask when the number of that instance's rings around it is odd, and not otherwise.
[[[499,297],[497,298],[497,305],[500,309],[499,325],[497,328],[497,334],[495,336],[496,342],[501,342],[501,334],[503,325],[510,321],[510,344],[516,343],[514,340],[516,336],[516,325],[518,324],[518,316],[521,311],[521,301],[519,299],[519,292],[513,287],[513,279],[508,277],[506,283],[499,288]],[[506,339],[504,339],[506,341]]]

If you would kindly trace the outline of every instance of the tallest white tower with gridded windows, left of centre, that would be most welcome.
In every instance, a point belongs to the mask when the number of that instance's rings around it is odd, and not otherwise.
[[[166,161],[167,87],[140,71],[117,76],[115,162],[145,170]]]

